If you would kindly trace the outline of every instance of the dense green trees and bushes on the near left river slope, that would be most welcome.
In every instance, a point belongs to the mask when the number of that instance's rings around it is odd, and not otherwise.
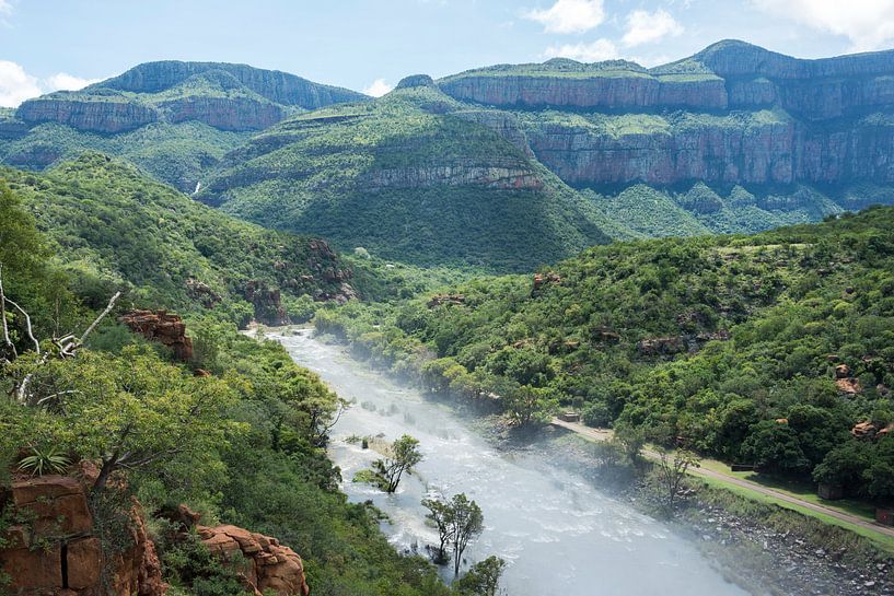
[[[80,179],[93,192],[106,185],[107,192],[127,189],[115,186],[120,180],[104,178],[109,170],[90,171],[97,177],[92,185]],[[78,200],[92,196],[73,182],[60,186],[53,176],[35,177],[28,185],[84,192],[74,195]],[[197,509],[205,523],[242,525],[290,545],[304,559],[315,594],[449,594],[430,563],[402,557],[387,544],[372,507],[348,504],[338,492],[338,470],[326,458],[325,445],[339,400],[278,343],[245,337],[231,323],[212,317],[195,320],[190,332],[197,357],[190,366],[211,373],[196,376],[189,366],[172,363],[159,346],[119,332],[113,312],[98,323],[86,347],[76,341],[60,350],[49,338],[96,319],[91,306],[95,296],[82,292],[89,288],[82,279],[86,269],[62,267],[69,262],[66,253],[78,245],[50,241],[36,229],[25,209],[35,207],[30,188],[34,186],[16,185],[11,192],[0,186],[2,469],[20,461],[16,454],[23,447],[33,449],[39,471],[65,466],[59,454],[72,463],[98,461],[102,470],[90,502],[102,521],[103,553],[113,557],[130,548],[130,495],[138,496],[175,594],[242,592],[237,561],[210,557],[195,536],[176,538],[175,528],[152,517],[178,503]],[[142,201],[151,204],[156,192],[161,190],[149,188]],[[53,203],[36,207],[36,221],[42,221]],[[115,218],[106,220],[112,224]],[[59,253],[53,257],[50,248]],[[152,283],[148,277],[142,287]],[[147,300],[153,292],[161,290],[148,292]],[[233,307],[225,305],[229,300],[222,296],[224,312]]]

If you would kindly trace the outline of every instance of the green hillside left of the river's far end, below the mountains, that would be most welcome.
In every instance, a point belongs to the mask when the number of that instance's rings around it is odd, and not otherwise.
[[[325,244],[240,222],[100,154],[45,174],[0,170],[0,180],[35,214],[92,307],[114,289],[137,306],[239,325],[253,317],[300,320],[310,316],[301,296],[334,295],[349,276]],[[285,312],[274,292],[282,293]]]

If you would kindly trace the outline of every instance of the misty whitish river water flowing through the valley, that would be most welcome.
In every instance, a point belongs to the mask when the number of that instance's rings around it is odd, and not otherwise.
[[[330,456],[349,499],[372,500],[388,515],[383,529],[398,549],[421,551],[437,544],[421,499],[465,492],[480,505],[486,526],[466,558],[506,559],[502,585],[510,596],[746,594],[724,581],[690,541],[536,448],[496,448],[453,409],[371,371],[344,348],[314,339],[310,329],[267,337],[353,402],[333,430]],[[405,476],[392,495],[350,481],[376,454],[346,439],[380,433],[388,441],[411,434],[425,454],[417,474]]]

